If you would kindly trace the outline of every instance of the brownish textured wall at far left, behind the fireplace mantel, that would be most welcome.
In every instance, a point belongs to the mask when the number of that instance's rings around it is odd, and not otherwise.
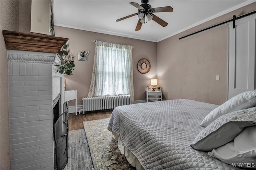
[[[2,30],[29,32],[30,0],[0,0],[0,169],[10,169],[7,51]],[[29,26],[28,26],[29,24]],[[29,29],[28,29],[29,27]]]

